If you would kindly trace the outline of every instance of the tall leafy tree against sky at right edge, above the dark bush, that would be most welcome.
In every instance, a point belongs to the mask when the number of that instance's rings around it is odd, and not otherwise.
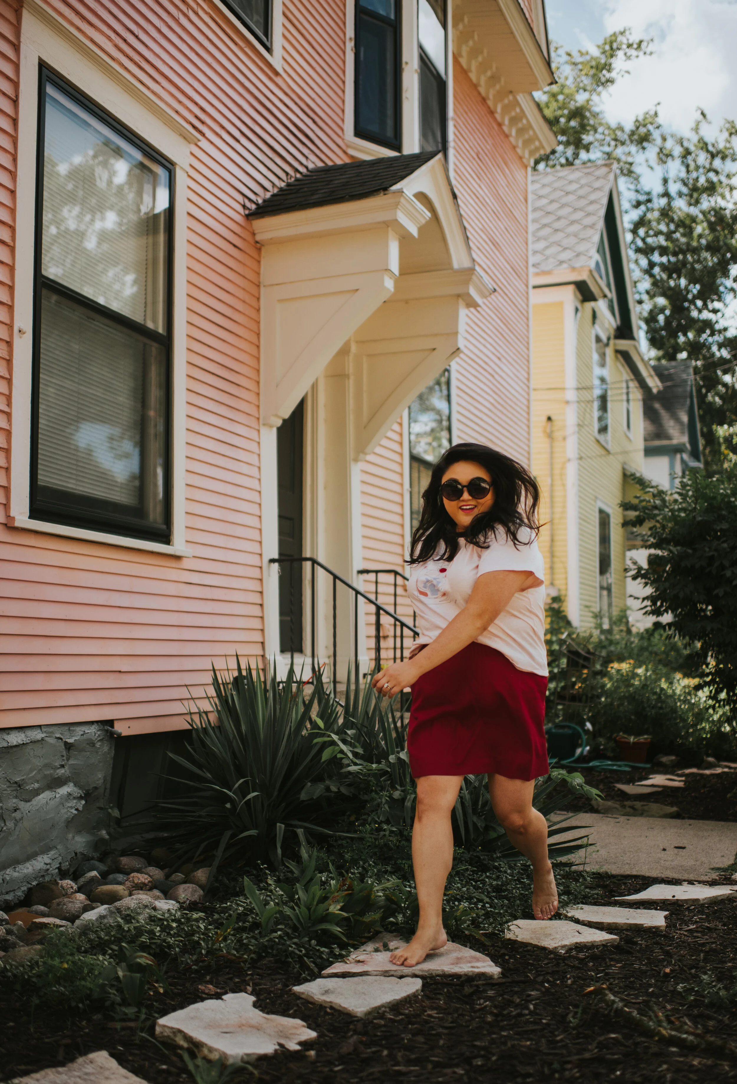
[[[661,131],[659,182],[641,182],[631,232],[645,333],[659,358],[694,362],[704,461],[724,466],[735,450],[734,358],[729,307],[737,297],[737,125],[714,136],[699,112],[686,136]]]

